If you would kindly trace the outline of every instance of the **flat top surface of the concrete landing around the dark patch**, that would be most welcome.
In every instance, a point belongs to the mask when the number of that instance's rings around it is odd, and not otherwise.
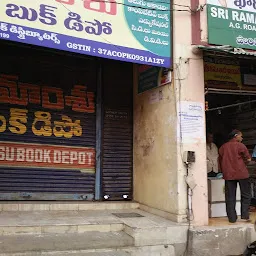
[[[118,218],[113,213],[138,213],[144,217]],[[180,224],[141,210],[0,212],[0,227],[82,224],[127,224],[134,228],[177,227]]]

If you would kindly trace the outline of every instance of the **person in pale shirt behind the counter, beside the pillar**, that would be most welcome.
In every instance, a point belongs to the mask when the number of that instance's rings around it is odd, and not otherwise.
[[[213,134],[208,132],[206,136],[206,157],[207,157],[207,175],[216,177],[218,173],[218,148],[213,143]]]

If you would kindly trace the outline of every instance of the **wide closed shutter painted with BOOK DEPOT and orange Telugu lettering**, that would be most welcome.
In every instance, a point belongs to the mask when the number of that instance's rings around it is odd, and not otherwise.
[[[1,43],[0,200],[92,200],[96,63]]]

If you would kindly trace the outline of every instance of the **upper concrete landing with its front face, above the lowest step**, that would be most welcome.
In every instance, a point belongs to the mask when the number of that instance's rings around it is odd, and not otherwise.
[[[0,212],[2,236],[23,234],[24,237],[45,237],[47,234],[83,235],[90,232],[107,235],[123,231],[133,239],[136,247],[152,248],[177,244],[179,248],[183,248],[186,245],[187,229],[188,226],[185,224],[174,223],[138,209]],[[165,248],[163,250],[165,251]],[[144,254],[148,256],[147,253]]]

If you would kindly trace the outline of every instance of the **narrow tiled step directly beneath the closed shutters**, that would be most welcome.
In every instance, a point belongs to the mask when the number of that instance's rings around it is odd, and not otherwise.
[[[104,211],[138,209],[136,202],[21,202],[0,201],[0,211]]]

